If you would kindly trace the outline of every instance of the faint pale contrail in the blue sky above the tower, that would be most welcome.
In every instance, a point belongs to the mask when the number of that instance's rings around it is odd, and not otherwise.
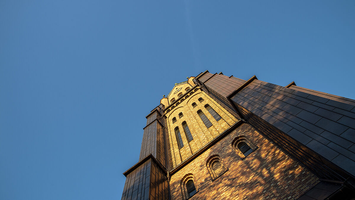
[[[200,68],[201,62],[199,58],[199,52],[198,52],[198,45],[197,41],[195,40],[195,37],[193,35],[193,30],[192,30],[192,23],[191,23],[191,17],[190,17],[190,3],[188,0],[184,0],[185,3],[185,20],[186,20],[186,25],[187,25],[187,31],[189,33],[190,41],[191,41],[191,48],[192,48],[192,56],[195,61],[195,69]]]

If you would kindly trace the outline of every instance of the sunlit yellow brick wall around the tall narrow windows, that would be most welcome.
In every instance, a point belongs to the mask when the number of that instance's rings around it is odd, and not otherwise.
[[[213,140],[213,138],[217,137],[220,133],[237,122],[237,119],[233,115],[200,89],[196,88],[195,91],[189,93],[189,95],[190,96],[187,98],[184,97],[182,101],[179,101],[176,107],[173,107],[171,110],[169,109],[169,111],[166,111],[165,113],[167,117],[166,120],[173,167],[189,158],[198,149],[205,146],[209,141]],[[202,97],[204,101],[198,101],[198,98],[200,97]],[[196,107],[191,105],[193,102],[197,104]],[[173,106],[175,106],[175,104]],[[209,104],[222,117],[222,119],[216,121],[204,107],[206,104]],[[203,121],[197,114],[197,110],[202,110],[209,121],[211,121],[211,127],[207,128],[206,125],[204,125]],[[180,112],[184,115],[181,119],[179,118]],[[172,121],[174,117],[176,117],[177,120],[175,123]],[[190,142],[187,142],[184,128],[182,127],[183,121],[186,121],[193,137],[193,140]],[[178,148],[178,142],[175,136],[174,129],[176,126],[179,127],[181,138],[184,143],[184,147],[181,149]]]

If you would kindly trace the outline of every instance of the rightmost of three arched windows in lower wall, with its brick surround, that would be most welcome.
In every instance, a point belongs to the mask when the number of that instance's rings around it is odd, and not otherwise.
[[[258,148],[244,134],[234,138],[232,147],[236,149],[236,152],[239,154],[241,159],[244,159],[251,152]]]

